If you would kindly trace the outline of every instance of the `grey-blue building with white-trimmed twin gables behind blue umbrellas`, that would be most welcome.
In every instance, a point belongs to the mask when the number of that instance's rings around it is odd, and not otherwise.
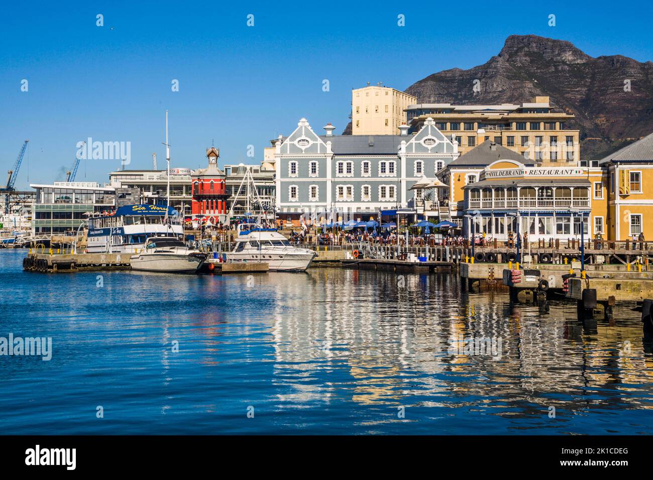
[[[302,118],[275,145],[276,205],[283,221],[309,212],[337,212],[369,219],[379,210],[406,207],[418,180],[458,157],[458,146],[433,120],[407,135],[317,135]]]

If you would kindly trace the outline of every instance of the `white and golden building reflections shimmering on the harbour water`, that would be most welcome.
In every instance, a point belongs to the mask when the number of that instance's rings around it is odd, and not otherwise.
[[[588,333],[572,304],[554,301],[541,315],[509,304],[505,293],[468,293],[449,274],[316,268],[275,274],[265,287],[275,300],[274,382],[291,387],[279,401],[347,396],[358,404],[486,406],[500,415],[652,407],[652,359],[630,305]],[[500,340],[500,357],[450,342],[470,338]],[[343,368],[348,379],[323,381]]]

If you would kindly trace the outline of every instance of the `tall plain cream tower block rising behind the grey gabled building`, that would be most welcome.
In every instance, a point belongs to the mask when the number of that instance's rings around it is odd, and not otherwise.
[[[406,121],[406,108],[417,97],[383,84],[351,91],[352,135],[399,135],[399,125]]]

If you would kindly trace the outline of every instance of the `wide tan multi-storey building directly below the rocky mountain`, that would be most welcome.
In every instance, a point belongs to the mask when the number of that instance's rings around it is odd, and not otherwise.
[[[443,134],[455,136],[462,155],[491,140],[543,167],[586,166],[580,160],[579,131],[567,129],[574,116],[555,112],[549,97],[535,97],[531,103],[520,105],[407,106],[410,132],[419,131],[427,118],[433,118]]]

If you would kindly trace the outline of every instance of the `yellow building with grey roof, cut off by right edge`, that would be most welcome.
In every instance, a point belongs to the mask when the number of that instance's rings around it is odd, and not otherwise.
[[[605,172],[609,240],[653,240],[653,133],[608,155],[599,166]]]

